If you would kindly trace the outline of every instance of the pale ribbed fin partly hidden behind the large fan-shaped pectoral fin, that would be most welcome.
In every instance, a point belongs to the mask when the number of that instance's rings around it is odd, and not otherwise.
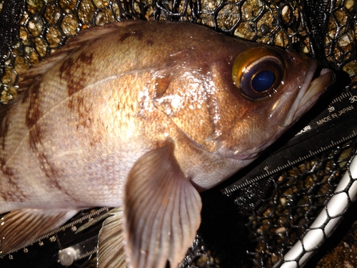
[[[99,231],[97,267],[128,267],[123,236],[123,209],[121,209],[112,213]]]

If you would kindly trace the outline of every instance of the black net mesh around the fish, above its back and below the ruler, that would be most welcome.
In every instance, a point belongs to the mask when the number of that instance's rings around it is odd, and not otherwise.
[[[336,94],[353,91],[356,11],[354,0],[0,0],[0,101],[16,97],[19,75],[78,31],[122,19],[191,21],[300,51],[336,71]],[[355,143],[251,184],[245,195],[205,198],[202,226],[180,267],[273,267],[333,196]]]

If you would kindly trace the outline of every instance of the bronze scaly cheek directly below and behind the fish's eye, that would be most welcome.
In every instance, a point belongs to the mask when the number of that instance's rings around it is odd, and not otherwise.
[[[266,100],[254,101],[243,96],[233,84],[231,72],[228,73],[230,66],[213,64],[211,68],[214,73],[221,74],[212,78],[216,85],[214,105],[211,105],[212,118],[217,119],[216,143],[223,151],[238,153],[254,148],[266,119]]]

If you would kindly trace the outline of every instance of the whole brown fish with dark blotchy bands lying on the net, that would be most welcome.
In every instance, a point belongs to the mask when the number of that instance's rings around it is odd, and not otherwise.
[[[285,49],[188,22],[81,31],[1,113],[0,254],[81,209],[115,208],[98,266],[177,267],[200,193],[256,159],[333,82]]]

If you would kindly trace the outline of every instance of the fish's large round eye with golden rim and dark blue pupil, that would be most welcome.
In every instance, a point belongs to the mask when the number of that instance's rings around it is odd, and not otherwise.
[[[253,48],[236,57],[232,79],[241,94],[249,99],[261,99],[278,89],[283,71],[283,61],[275,52]]]

